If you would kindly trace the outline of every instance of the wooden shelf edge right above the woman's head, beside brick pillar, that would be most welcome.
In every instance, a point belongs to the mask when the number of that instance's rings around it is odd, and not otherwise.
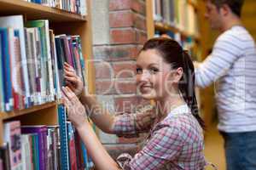
[[[156,31],[172,31],[174,33],[180,32],[183,37],[192,37],[195,40],[200,40],[200,36],[189,34],[187,31],[181,31],[177,26],[171,26],[162,22],[154,22],[154,28]]]

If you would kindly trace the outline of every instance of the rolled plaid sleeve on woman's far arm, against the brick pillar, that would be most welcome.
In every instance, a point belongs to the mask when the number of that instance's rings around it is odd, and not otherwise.
[[[138,133],[149,132],[154,123],[155,115],[153,110],[137,112],[133,114],[123,113],[115,117],[113,133],[129,137]]]

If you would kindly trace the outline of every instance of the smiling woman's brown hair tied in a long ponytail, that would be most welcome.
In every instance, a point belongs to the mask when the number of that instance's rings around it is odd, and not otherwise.
[[[184,101],[189,106],[191,113],[200,123],[201,127],[205,128],[205,123],[198,113],[198,105],[195,97],[195,68],[189,54],[183,51],[183,48],[178,42],[168,37],[152,38],[146,42],[141,51],[155,49],[171,64],[172,69],[178,67],[183,68],[183,77],[178,83],[178,88],[183,95]]]

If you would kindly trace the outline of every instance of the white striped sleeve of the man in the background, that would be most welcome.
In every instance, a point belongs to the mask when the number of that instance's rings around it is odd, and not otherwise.
[[[206,88],[219,77],[223,77],[241,55],[243,49],[239,44],[241,42],[234,35],[219,37],[214,44],[212,54],[195,69],[195,85]]]

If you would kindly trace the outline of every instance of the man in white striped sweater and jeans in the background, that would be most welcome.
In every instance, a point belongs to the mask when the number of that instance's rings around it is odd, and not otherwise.
[[[256,169],[256,49],[241,25],[243,0],[207,0],[205,14],[218,30],[212,54],[195,63],[195,83],[216,82],[218,130],[228,170]]]

